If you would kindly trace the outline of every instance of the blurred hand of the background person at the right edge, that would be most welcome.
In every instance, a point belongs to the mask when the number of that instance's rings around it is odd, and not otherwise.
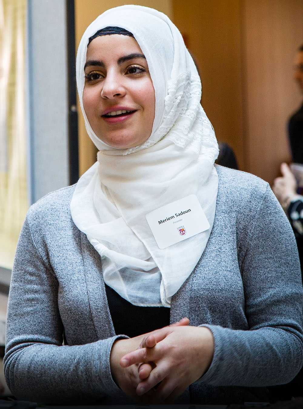
[[[287,208],[294,196],[296,196],[297,183],[292,171],[286,163],[280,166],[282,176],[274,180],[272,190],[283,209]]]

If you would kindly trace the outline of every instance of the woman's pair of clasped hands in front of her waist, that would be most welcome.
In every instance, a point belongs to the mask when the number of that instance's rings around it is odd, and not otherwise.
[[[130,339],[118,339],[110,353],[116,384],[145,404],[173,403],[209,368],[213,358],[209,328],[189,319]]]

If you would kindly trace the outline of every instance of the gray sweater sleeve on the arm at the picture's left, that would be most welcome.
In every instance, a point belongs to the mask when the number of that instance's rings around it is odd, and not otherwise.
[[[4,357],[9,389],[19,400],[45,403],[93,403],[105,394],[119,396],[109,363],[117,337],[63,345],[57,294],[56,276],[25,220],[9,292]]]

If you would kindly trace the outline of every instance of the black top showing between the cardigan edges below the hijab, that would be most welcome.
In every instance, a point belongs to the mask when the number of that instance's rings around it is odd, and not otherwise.
[[[106,284],[105,290],[116,335],[132,338],[169,325],[170,308],[134,306]]]

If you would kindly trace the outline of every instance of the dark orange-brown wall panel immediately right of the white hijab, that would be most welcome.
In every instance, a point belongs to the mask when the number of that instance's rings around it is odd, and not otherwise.
[[[244,167],[240,2],[173,1],[175,25],[195,56],[202,81],[202,106],[217,139],[234,149]]]

